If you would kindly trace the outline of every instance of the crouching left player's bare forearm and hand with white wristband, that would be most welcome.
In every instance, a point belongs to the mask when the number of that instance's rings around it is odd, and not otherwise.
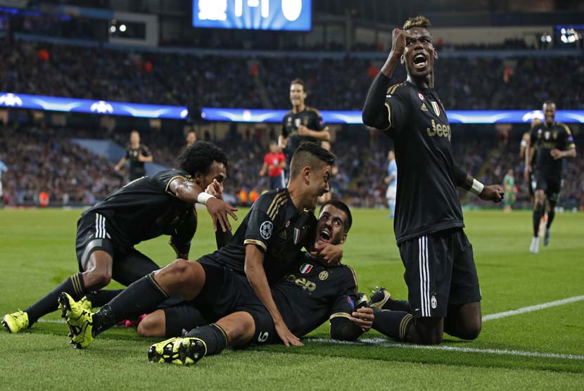
[[[182,177],[177,177],[172,180],[169,185],[169,190],[180,200],[186,201],[187,203],[203,203],[211,215],[213,229],[215,231],[217,231],[217,221],[220,223],[223,232],[231,231],[231,224],[227,215],[236,220],[236,207],[232,207],[220,198],[212,196],[212,194],[205,193],[197,184],[186,181]]]

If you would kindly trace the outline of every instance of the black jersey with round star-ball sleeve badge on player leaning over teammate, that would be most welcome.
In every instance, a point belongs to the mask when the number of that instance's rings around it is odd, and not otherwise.
[[[257,245],[265,253],[267,280],[277,281],[291,269],[303,248],[311,248],[316,223],[312,212],[298,212],[288,189],[269,191],[255,200],[231,241],[207,257],[245,274],[246,245]]]

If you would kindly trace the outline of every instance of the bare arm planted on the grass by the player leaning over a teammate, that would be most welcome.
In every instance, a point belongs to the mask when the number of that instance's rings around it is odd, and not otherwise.
[[[293,335],[291,331],[284,323],[284,319],[276,307],[274,298],[272,297],[272,291],[269,290],[269,285],[267,283],[266,274],[264,271],[264,253],[257,245],[249,244],[246,245],[246,264],[244,267],[248,281],[253,288],[259,299],[265,305],[269,314],[272,315],[274,320],[274,327],[280,337],[284,342],[284,345],[290,346],[303,346],[300,339]]]

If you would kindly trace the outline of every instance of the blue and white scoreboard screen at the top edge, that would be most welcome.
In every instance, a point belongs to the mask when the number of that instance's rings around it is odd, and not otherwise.
[[[312,0],[193,0],[193,26],[310,31]]]

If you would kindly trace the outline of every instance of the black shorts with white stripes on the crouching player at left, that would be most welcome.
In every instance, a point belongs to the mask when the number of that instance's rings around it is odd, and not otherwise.
[[[152,259],[135,248],[120,245],[112,232],[110,222],[99,213],[89,212],[79,219],[75,238],[79,271],[87,269],[87,261],[96,250],[112,257],[112,278],[125,286],[159,269]]]

